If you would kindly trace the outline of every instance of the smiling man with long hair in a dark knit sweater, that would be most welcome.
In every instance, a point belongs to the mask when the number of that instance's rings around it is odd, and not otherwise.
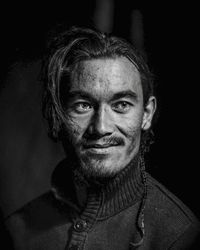
[[[191,249],[192,212],[145,171],[152,75],[123,39],[72,28],[44,66],[43,112],[66,152],[52,189],[10,215],[16,249]]]

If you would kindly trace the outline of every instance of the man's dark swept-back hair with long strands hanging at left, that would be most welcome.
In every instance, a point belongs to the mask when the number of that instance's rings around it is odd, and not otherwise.
[[[145,106],[149,97],[154,94],[153,75],[143,56],[132,44],[111,34],[80,27],[72,27],[50,40],[42,70],[44,82],[42,106],[43,116],[49,125],[49,136],[52,139],[61,139],[60,132],[65,121],[61,101],[63,77],[65,77],[65,88],[69,88],[70,76],[77,63],[117,57],[126,57],[137,68]]]

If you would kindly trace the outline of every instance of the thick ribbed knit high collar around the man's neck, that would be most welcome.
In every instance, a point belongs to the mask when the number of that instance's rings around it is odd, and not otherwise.
[[[85,180],[79,172],[73,171],[67,159],[63,160],[52,175],[52,190],[57,199],[67,203],[77,212],[96,214],[98,219],[112,216],[139,201],[144,193],[140,172],[140,158],[137,155],[128,166],[115,177],[103,180]],[[77,193],[87,199],[81,206]],[[98,214],[97,214],[98,211]]]

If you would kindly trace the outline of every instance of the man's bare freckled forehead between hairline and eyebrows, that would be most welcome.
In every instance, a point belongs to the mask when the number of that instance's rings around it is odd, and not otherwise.
[[[108,94],[132,90],[141,92],[140,74],[125,57],[92,59],[79,62],[71,75],[70,90]]]

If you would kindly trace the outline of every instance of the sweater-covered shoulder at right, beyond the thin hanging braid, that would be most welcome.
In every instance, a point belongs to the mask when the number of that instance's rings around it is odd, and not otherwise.
[[[191,244],[200,233],[200,223],[196,216],[179,198],[149,174],[147,185],[146,210],[151,231],[156,231],[157,237],[162,237],[169,245]],[[180,246],[174,249],[182,248]]]

